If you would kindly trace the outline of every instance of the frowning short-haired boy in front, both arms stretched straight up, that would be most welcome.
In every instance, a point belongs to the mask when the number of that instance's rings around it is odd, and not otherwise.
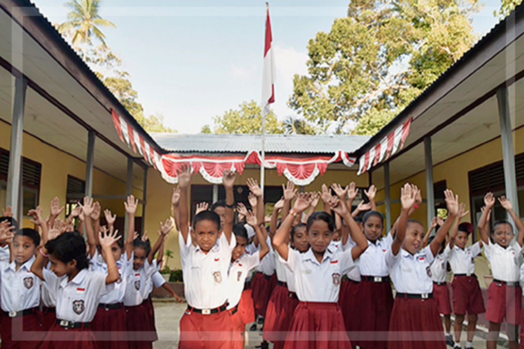
[[[179,348],[230,348],[232,322],[227,308],[227,270],[236,246],[232,236],[233,184],[236,174],[224,171],[226,190],[224,227],[220,234],[220,216],[203,211],[193,219],[189,234],[187,191],[191,173],[183,167],[180,188],[180,259],[184,275],[184,293],[188,309],[180,319]],[[196,245],[192,238],[196,239]]]

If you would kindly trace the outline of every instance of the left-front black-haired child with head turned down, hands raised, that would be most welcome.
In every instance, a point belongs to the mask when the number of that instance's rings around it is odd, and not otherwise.
[[[97,347],[90,323],[106,292],[105,286],[119,278],[111,246],[121,238],[117,232],[99,234],[100,246],[108,266],[106,273],[88,269],[85,242],[78,232],[60,235],[58,230],[50,230],[49,241],[47,236],[44,237],[45,245],[39,249],[40,253],[31,266],[31,271],[47,283],[50,292],[56,295],[57,322],[47,332],[42,347]],[[43,268],[47,258],[51,261],[51,270]]]

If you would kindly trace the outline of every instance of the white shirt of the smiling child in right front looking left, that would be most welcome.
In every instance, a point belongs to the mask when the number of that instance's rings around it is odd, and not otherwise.
[[[386,252],[386,263],[397,292],[418,295],[433,292],[433,280],[429,271],[433,259],[429,245],[414,255],[400,248],[395,256],[389,248]]]

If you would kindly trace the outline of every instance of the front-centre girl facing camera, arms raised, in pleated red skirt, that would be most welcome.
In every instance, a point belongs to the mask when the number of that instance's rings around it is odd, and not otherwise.
[[[342,275],[356,267],[355,259],[366,249],[366,238],[351,217],[344,202],[329,200],[331,209],[346,220],[357,243],[352,249],[328,248],[335,230],[333,217],[315,212],[308,218],[307,232],[311,247],[305,253],[290,249],[286,237],[294,219],[309,208],[311,193],[298,194],[293,209],[278,229],[273,243],[286,266],[293,271],[299,305],[293,313],[286,335],[285,349],[351,348],[344,328],[339,300]]]

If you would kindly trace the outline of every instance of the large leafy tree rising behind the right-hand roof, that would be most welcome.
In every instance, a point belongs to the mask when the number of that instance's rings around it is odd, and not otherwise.
[[[320,132],[373,134],[473,45],[478,10],[477,0],[351,0],[309,40],[288,105]]]

